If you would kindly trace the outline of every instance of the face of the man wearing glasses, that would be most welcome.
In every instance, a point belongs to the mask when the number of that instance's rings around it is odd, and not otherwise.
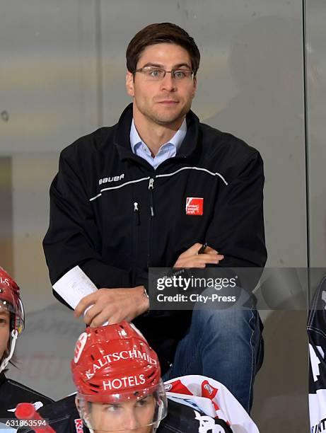
[[[188,52],[180,45],[162,43],[149,45],[142,52],[136,69],[158,67],[166,71],[192,69]],[[141,72],[127,72],[126,86],[134,102],[134,117],[138,122],[153,122],[173,128],[179,126],[190,110],[197,80],[173,79],[165,74],[161,81],[149,81]],[[179,124],[179,125],[178,125]]]

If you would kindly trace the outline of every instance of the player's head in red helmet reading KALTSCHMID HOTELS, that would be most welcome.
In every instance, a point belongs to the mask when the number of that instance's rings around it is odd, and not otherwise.
[[[166,415],[158,357],[132,324],[86,328],[71,370],[78,411],[95,433],[152,433]]]

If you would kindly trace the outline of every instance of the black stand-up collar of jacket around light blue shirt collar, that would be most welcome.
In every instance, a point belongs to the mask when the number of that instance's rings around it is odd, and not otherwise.
[[[132,153],[130,144],[130,128],[132,126],[132,103],[122,112],[119,122],[117,123],[117,132],[115,134],[115,146],[121,159],[132,158],[137,161],[141,160],[139,156]],[[187,158],[190,156],[197,146],[199,135],[199,119],[191,110],[187,113],[187,134],[183,140],[180,149],[177,151],[175,158]]]

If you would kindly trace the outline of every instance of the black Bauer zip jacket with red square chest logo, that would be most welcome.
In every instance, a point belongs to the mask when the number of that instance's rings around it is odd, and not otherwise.
[[[132,104],[117,125],[62,151],[43,241],[52,284],[79,265],[97,287],[146,285],[149,267],[172,267],[205,241],[225,256],[221,267],[263,267],[259,152],[190,111],[177,155],[154,170],[132,153],[131,122]],[[202,215],[186,213],[189,197],[203,199]],[[163,362],[163,353],[173,359],[190,318],[188,311],[153,311],[134,323]]]

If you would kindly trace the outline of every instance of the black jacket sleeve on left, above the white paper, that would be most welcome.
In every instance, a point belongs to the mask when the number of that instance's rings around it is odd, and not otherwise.
[[[50,187],[50,226],[43,248],[51,282],[79,265],[97,287],[132,287],[131,271],[100,259],[100,233],[81,175],[82,164],[74,161],[77,157],[76,152],[69,157],[62,152]]]

